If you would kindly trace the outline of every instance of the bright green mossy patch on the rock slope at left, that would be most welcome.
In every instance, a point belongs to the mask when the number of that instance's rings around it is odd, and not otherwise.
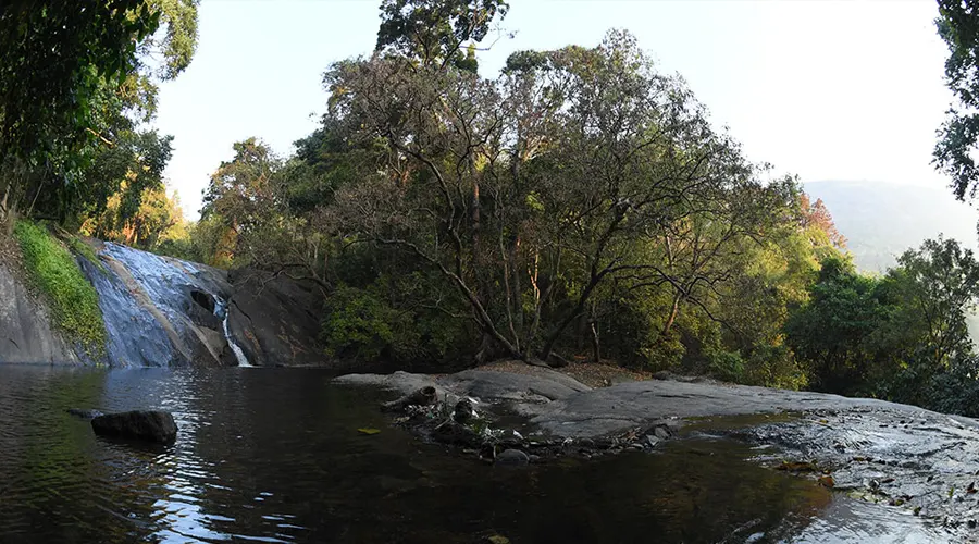
[[[46,228],[18,221],[14,235],[24,254],[30,282],[44,293],[54,324],[80,343],[91,356],[106,349],[106,325],[99,296],[85,279],[72,254]]]

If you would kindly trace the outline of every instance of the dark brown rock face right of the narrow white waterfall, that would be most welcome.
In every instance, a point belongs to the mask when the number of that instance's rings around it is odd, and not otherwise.
[[[319,366],[323,297],[315,285],[283,275],[232,271],[228,332],[252,364]]]

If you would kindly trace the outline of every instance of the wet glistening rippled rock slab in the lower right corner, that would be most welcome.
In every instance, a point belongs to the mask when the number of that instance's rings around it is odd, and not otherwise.
[[[851,497],[901,507],[950,529],[977,529],[979,431],[971,420],[864,407],[810,411],[730,435],[769,446],[758,457],[763,463],[811,465]]]

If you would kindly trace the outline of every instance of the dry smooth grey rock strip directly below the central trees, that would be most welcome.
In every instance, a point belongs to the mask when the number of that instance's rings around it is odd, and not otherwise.
[[[717,382],[649,380],[592,388],[560,372],[529,367],[528,372],[466,370],[448,375],[347,374],[337,383],[375,385],[411,393],[435,385],[439,397],[471,396],[507,401],[541,430],[562,437],[596,437],[671,418],[744,416],[814,410],[873,409],[938,418],[945,424],[979,429],[969,418],[944,416],[914,406],[823,393],[772,390]]]

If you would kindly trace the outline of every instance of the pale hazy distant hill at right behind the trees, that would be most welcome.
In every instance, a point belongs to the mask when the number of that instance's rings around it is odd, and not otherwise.
[[[833,181],[807,183],[805,190],[826,203],[866,272],[884,272],[905,249],[940,233],[976,249],[979,211],[945,187]]]

